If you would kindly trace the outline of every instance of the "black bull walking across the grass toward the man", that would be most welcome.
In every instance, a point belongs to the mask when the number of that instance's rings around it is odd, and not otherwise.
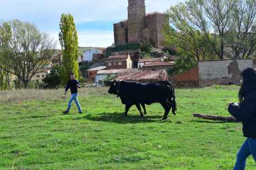
[[[144,114],[147,114],[145,104],[160,103],[165,109],[165,116],[167,116],[172,109],[175,115],[176,101],[175,91],[172,84],[168,81],[161,81],[157,83],[138,83],[138,82],[125,82],[114,81],[112,82],[108,93],[115,94],[120,97],[123,104],[125,104],[125,114],[135,104],[139,113],[143,117],[141,106],[144,109]]]

